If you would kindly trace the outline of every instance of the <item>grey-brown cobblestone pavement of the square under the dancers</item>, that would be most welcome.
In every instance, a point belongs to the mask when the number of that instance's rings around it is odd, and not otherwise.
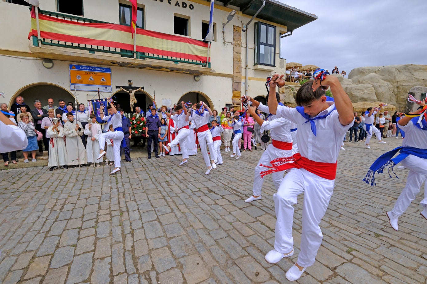
[[[418,194],[394,231],[392,208],[399,179],[363,183],[368,166],[401,144],[346,143],[335,192],[322,221],[316,263],[298,283],[426,283],[427,220]],[[0,171],[0,283],[287,283],[301,239],[301,203],[295,206],[296,253],[264,261],[274,241],[271,177],[263,199],[247,204],[262,151],[243,152],[204,175],[201,155],[134,158],[118,175],[109,166],[48,171]],[[227,153],[228,154],[228,153]],[[230,175],[232,174],[232,175]]]

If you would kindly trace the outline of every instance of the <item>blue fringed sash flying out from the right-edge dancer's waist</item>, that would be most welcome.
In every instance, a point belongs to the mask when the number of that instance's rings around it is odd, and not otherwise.
[[[393,156],[400,150],[400,154],[396,156],[396,158],[393,158]],[[409,146],[400,146],[397,147],[389,152],[384,153],[381,155],[377,160],[374,161],[374,163],[369,167],[369,171],[366,174],[365,178],[363,178],[363,181],[367,184],[371,184],[371,186],[376,185],[375,183],[375,172],[381,174],[383,173],[384,169],[387,168],[387,172],[390,175],[390,169],[393,171],[393,167],[396,164],[399,164],[402,160],[407,158],[408,155],[414,155],[422,159],[427,159],[427,150],[426,149],[419,149],[415,147],[409,147]],[[395,174],[396,178],[398,176]]]

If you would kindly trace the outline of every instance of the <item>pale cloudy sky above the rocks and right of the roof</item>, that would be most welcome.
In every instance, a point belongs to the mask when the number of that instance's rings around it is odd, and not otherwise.
[[[280,1],[319,17],[282,39],[287,62],[338,66],[347,75],[363,66],[427,65],[425,0]]]

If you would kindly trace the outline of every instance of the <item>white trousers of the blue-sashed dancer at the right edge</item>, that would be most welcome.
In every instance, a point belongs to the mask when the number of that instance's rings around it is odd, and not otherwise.
[[[399,217],[406,211],[427,179],[427,159],[409,155],[401,161],[401,164],[409,169],[409,174],[405,187],[392,210],[394,217]],[[427,185],[424,185],[424,199],[421,201],[421,205],[427,207]]]

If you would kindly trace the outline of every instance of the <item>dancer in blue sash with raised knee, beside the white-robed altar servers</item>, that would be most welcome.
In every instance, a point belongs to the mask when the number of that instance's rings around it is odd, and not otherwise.
[[[105,139],[112,139],[113,140],[113,152],[114,152],[114,169],[112,172],[110,172],[110,175],[115,174],[116,172],[120,171],[120,144],[123,141],[123,128],[122,128],[122,116],[120,115],[120,112],[117,112],[116,107],[113,104],[113,100],[111,98],[108,98],[110,101],[110,105],[107,107],[108,114],[111,116],[111,124],[113,125],[114,132],[109,131],[105,133],[99,134],[99,156],[97,160],[102,158],[103,155],[107,154],[107,152],[104,151],[105,147]],[[104,117],[104,105],[101,104],[99,106],[99,116],[101,119]],[[126,146],[126,144],[125,144]]]

